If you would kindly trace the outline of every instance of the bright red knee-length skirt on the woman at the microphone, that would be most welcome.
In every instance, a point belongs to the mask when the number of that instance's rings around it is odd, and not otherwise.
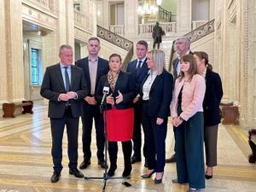
[[[106,113],[106,111],[105,111]],[[133,137],[134,109],[117,109],[107,111],[107,133],[109,142],[125,142]]]

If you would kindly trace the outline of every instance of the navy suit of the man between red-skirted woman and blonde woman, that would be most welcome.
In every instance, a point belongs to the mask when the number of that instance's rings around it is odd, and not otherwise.
[[[143,62],[143,66],[137,71],[137,59],[134,61],[131,61],[128,63],[128,66],[126,68],[126,72],[131,73],[133,78],[135,79],[136,82],[136,89],[139,91],[141,88],[141,85],[143,83],[143,79],[148,74],[148,65],[147,65],[147,59]],[[141,108],[140,108],[140,103],[136,102],[134,104],[134,125],[133,125],[133,151],[134,151],[134,156],[137,158],[141,158],[141,148],[142,148],[142,129],[141,129]],[[143,146],[143,154],[144,156],[146,155],[146,146],[144,143]]]

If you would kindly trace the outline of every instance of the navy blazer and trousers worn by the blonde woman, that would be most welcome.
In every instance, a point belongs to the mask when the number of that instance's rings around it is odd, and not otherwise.
[[[143,84],[140,91],[141,98],[143,98]],[[154,169],[155,172],[164,172],[166,165],[167,119],[171,115],[172,84],[172,74],[164,70],[154,79],[149,91],[149,100],[142,101],[141,116],[147,146],[148,169]],[[157,125],[157,118],[164,119],[164,122]]]

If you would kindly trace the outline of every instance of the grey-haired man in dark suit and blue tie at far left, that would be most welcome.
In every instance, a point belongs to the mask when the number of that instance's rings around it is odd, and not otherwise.
[[[78,166],[78,137],[80,101],[88,95],[84,73],[79,67],[72,65],[73,48],[61,45],[60,63],[47,67],[40,94],[49,99],[48,116],[52,136],[51,154],[54,163],[54,173],[51,182],[56,183],[61,177],[62,138],[67,126],[67,153],[69,158],[69,174],[84,177]]]

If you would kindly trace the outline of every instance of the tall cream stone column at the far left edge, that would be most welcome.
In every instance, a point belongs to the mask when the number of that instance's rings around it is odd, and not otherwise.
[[[3,1],[1,1],[3,2]],[[1,3],[3,4],[3,3]],[[1,15],[2,13],[1,9]],[[22,19],[21,0],[4,1],[5,49],[6,49],[6,72],[7,72],[7,100],[20,102],[24,99],[24,67],[23,67],[23,42],[22,42]],[[2,17],[1,17],[2,18]],[[3,38],[1,38],[3,39]],[[2,66],[2,65],[1,65]],[[29,74],[26,74],[29,75]],[[3,76],[4,77],[4,76]],[[5,92],[1,90],[1,92]]]

